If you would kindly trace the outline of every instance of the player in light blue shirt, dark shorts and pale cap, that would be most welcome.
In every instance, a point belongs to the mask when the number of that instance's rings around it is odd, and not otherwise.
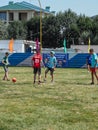
[[[46,63],[46,71],[45,71],[45,81],[46,81],[46,77],[47,77],[47,73],[50,71],[50,75],[51,75],[51,82],[53,82],[54,76],[53,76],[53,72],[55,70],[56,64],[57,64],[57,60],[56,57],[54,56],[55,52],[51,51],[50,52],[50,57],[47,59]]]

